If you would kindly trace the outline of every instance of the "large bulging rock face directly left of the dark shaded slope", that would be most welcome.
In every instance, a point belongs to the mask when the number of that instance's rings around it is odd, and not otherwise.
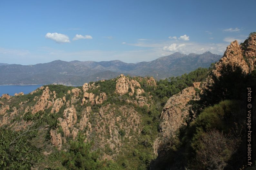
[[[187,103],[190,100],[198,100],[195,89],[200,89],[200,82],[193,83],[192,87],[182,90],[182,92],[173,95],[164,105],[161,112],[159,125],[163,139],[175,135],[182,124],[185,124],[184,119],[189,114],[190,105]]]

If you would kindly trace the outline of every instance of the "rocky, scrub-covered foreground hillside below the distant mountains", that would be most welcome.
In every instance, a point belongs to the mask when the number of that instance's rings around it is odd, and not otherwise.
[[[174,60],[186,58],[174,54]],[[4,94],[0,168],[253,170],[255,157],[249,167],[244,156],[246,93],[241,89],[256,86],[255,56],[251,33],[240,45],[231,42],[214,66],[182,76],[156,81],[121,74],[79,87],[44,85],[26,95]],[[256,122],[255,109],[252,115]]]

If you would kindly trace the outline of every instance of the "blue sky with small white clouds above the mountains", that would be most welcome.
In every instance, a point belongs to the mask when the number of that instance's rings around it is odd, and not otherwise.
[[[0,1],[0,63],[223,55],[256,31],[256,0]]]

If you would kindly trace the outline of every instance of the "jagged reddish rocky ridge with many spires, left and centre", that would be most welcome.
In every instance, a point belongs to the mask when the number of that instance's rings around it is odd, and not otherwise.
[[[156,86],[153,77],[140,78],[148,85]],[[108,94],[100,91],[100,85],[85,83],[81,87],[70,87],[61,96],[51,86],[42,86],[37,90],[25,95],[25,100],[13,107],[13,101],[18,96],[3,95],[0,100],[1,126],[9,125],[15,130],[25,130],[31,122],[23,121],[25,113],[33,115],[39,111],[59,115],[57,117],[58,127],[49,131],[51,143],[61,150],[69,139],[76,139],[79,132],[86,134],[86,140],[96,140],[96,148],[103,150],[111,149],[112,155],[104,154],[103,157],[112,159],[123,148],[123,140],[136,143],[142,131],[142,117],[136,109],[128,103],[134,103],[142,107],[150,106],[151,100],[143,96],[145,91],[138,81],[131,77],[120,75],[114,82],[114,91],[117,96],[129,95],[134,100],[126,99],[127,105],[116,107],[113,104],[104,104]],[[101,81],[104,83],[104,80]],[[58,91],[58,89],[57,89]],[[26,97],[31,96],[31,97]],[[32,97],[33,96],[33,97]],[[3,101],[3,102],[2,102]],[[9,103],[9,104],[8,104]],[[12,106],[9,106],[9,105]],[[100,106],[95,110],[95,105]],[[12,107],[12,108],[11,108]],[[94,109],[93,109],[94,108]],[[19,119],[20,122],[10,120]],[[120,131],[121,130],[121,131]]]

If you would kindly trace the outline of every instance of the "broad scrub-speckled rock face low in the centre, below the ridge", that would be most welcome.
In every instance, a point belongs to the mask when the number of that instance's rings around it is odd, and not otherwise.
[[[95,113],[95,116],[96,122],[93,127],[89,127],[89,122],[87,123],[88,129],[92,129],[92,132],[88,132],[89,130],[87,130],[86,133],[88,137],[90,137],[90,135],[95,132],[100,148],[109,145],[112,150],[118,153],[123,145],[121,140],[122,136],[126,138],[127,141],[130,139],[136,140],[137,137],[131,134],[134,134],[134,132],[135,134],[140,134],[141,132],[141,118],[133,107],[121,106],[115,108],[108,104],[101,107],[99,112]],[[87,117],[86,119],[88,120]],[[120,130],[125,132],[122,136],[120,136]],[[111,157],[113,157],[113,155],[111,155]]]

